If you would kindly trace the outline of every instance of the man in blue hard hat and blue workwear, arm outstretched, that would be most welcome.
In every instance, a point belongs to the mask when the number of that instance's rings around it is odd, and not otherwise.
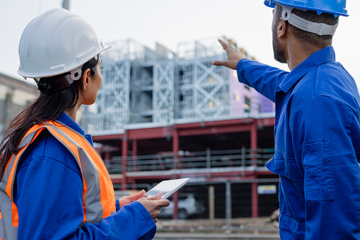
[[[276,105],[275,153],[281,239],[360,239],[360,97],[335,61],[332,35],[346,0],[266,0],[274,8],[274,58],[290,72],[245,59],[228,43],[240,82]]]

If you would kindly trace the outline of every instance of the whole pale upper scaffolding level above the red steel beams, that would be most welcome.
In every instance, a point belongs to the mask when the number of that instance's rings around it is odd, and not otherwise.
[[[103,86],[96,103],[83,110],[81,126],[93,135],[115,134],[129,127],[259,113],[259,94],[238,87],[236,80],[233,96],[233,70],[211,65],[214,59],[226,59],[217,39],[182,42],[176,54],[158,43],[151,50],[131,39],[110,42],[112,49],[101,55]]]

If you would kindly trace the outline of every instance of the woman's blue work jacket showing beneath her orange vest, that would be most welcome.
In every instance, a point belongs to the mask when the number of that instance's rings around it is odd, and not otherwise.
[[[60,122],[91,136],[68,115]],[[18,207],[18,239],[153,239],[156,224],[139,202],[98,224],[83,224],[83,181],[77,160],[50,132],[43,130],[19,161],[14,187]],[[100,194],[100,193],[99,193]],[[115,204],[115,202],[114,202]]]

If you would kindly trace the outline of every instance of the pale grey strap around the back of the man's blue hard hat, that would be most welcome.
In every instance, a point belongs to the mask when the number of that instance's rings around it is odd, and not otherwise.
[[[338,23],[336,23],[335,25],[327,25],[325,23],[313,23],[307,21],[306,19],[300,18],[299,16],[296,16],[294,13],[291,13],[294,8],[284,5],[281,5],[281,7],[281,18],[284,21],[288,21],[291,25],[294,25],[294,27],[300,28],[301,30],[304,30],[306,32],[315,33],[320,36],[335,34]]]

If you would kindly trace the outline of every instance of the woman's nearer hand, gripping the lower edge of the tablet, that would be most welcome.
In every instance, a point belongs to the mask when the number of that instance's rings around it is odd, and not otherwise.
[[[168,207],[168,205],[170,205],[169,200],[161,200],[162,195],[162,193],[158,193],[158,195],[152,197],[147,197],[145,195],[144,198],[137,200],[146,208],[146,210],[148,210],[153,218],[153,222],[158,222],[158,215],[160,214],[161,207]]]

